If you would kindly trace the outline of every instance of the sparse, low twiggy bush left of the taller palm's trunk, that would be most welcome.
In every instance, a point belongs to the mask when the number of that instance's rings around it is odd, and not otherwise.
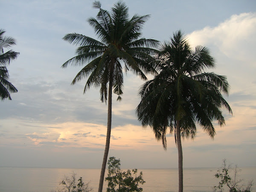
[[[89,183],[85,183],[82,177],[79,178],[79,183],[76,184],[76,174],[73,173],[71,177],[65,175],[64,179],[60,182],[61,188],[52,192],[90,192],[93,189],[89,187]]]

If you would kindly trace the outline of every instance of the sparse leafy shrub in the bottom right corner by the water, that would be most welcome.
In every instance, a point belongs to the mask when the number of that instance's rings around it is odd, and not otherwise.
[[[233,172],[233,178],[230,176],[230,171]],[[221,181],[219,182],[218,186],[213,187],[213,191],[223,192],[223,186],[226,185],[229,188],[229,192],[250,192],[250,188],[253,185],[253,180],[250,180],[247,186],[244,188],[244,184],[241,184],[242,180],[238,179],[239,172],[241,172],[241,169],[238,169],[237,165],[235,167],[233,167],[231,164],[227,166],[227,162],[224,159],[222,169],[219,169],[215,174],[215,177]]]

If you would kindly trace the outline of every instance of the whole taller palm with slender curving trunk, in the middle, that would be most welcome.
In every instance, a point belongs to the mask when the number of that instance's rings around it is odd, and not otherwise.
[[[158,41],[140,38],[140,31],[149,15],[134,15],[129,19],[128,7],[122,1],[114,4],[111,12],[101,9],[99,1],[93,3],[93,8],[99,9],[99,13],[96,18],[90,17],[88,22],[101,41],[76,33],[65,35],[65,41],[79,47],[77,55],[62,67],[86,64],[72,84],[88,76],[84,93],[94,85],[100,87],[101,101],[107,103],[108,100],[107,138],[99,181],[99,192],[102,192],[111,136],[112,88],[113,93],[118,95],[117,100],[121,101],[123,68],[125,72],[131,70],[144,80],[147,79],[144,73],[155,73],[151,64],[154,58],[150,55],[157,52],[153,48],[157,47]]]

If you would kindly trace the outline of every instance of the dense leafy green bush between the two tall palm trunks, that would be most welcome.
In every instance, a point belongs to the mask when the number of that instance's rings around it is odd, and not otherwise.
[[[116,160],[115,157],[109,157],[108,177],[105,180],[108,181],[107,192],[141,192],[143,189],[138,187],[139,183],[142,185],[145,183],[142,172],[137,176],[137,169],[133,169],[132,172],[129,169],[127,172],[122,172],[120,159]]]

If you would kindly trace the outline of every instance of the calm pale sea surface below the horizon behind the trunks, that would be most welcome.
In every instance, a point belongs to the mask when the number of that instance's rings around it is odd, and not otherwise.
[[[241,168],[239,174],[244,182],[254,180],[252,192],[256,192],[256,167]],[[125,170],[125,169],[123,169]],[[210,171],[212,170],[212,171]],[[212,186],[218,185],[214,177],[216,168],[184,169],[184,192],[212,192]],[[139,169],[143,172],[145,192],[176,192],[178,189],[177,169]],[[77,174],[84,183],[90,181],[93,191],[97,191],[99,169],[58,169],[58,168],[4,168],[0,167],[0,192],[49,192],[56,189],[64,175]],[[107,175],[107,174],[106,174]],[[104,183],[103,191],[107,184]]]

